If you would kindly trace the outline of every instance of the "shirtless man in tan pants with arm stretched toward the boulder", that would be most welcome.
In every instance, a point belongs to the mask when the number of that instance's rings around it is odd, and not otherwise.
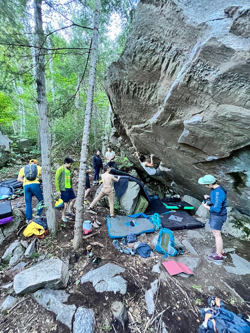
[[[101,189],[98,196],[94,199],[94,201],[91,202],[87,209],[92,209],[98,200],[102,199],[105,195],[107,195],[109,200],[110,217],[114,217],[114,190],[112,188],[112,185],[114,181],[119,181],[120,176],[116,178],[113,174],[110,174],[109,166],[103,166],[103,170],[105,171],[105,173],[102,174],[103,188]]]

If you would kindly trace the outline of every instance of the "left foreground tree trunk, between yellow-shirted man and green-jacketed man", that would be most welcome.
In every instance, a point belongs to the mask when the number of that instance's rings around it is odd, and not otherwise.
[[[42,26],[42,0],[34,0],[34,17],[35,17],[35,43],[38,47],[44,45],[44,34]],[[54,208],[54,197],[51,182],[51,165],[50,165],[50,134],[49,134],[49,117],[47,112],[46,83],[44,69],[43,49],[36,48],[36,84],[37,84],[37,103],[40,115],[40,139],[42,153],[42,177],[43,177],[43,194],[44,205],[48,229],[51,233],[56,233],[56,215]]]

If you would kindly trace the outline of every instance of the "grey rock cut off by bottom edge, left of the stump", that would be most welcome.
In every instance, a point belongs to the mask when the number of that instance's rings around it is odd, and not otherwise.
[[[95,314],[92,309],[79,307],[75,313],[73,333],[94,333]]]

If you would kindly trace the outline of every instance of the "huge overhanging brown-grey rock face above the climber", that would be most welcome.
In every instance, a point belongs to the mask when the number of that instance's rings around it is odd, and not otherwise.
[[[213,174],[229,205],[249,213],[247,3],[142,0],[105,84],[113,140],[131,161],[135,148],[155,154],[171,166],[168,184],[199,199],[206,189],[198,178]]]

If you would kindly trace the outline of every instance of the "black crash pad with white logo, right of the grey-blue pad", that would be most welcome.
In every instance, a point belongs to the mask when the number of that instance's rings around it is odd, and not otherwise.
[[[162,227],[170,230],[197,229],[205,226],[205,223],[202,223],[182,210],[162,214],[160,217]]]

